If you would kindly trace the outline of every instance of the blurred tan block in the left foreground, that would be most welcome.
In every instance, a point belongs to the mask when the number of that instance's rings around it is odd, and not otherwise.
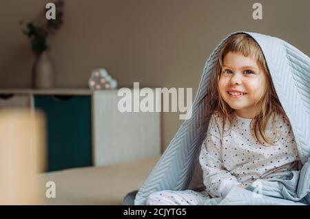
[[[45,163],[45,119],[28,110],[0,111],[0,205],[38,205]]]

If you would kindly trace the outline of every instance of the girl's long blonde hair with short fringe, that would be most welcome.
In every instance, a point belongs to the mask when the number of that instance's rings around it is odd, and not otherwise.
[[[262,50],[254,38],[247,34],[234,34],[227,38],[227,41],[225,41],[220,47],[214,73],[211,76],[211,84],[208,87],[205,97],[202,99],[205,100],[207,107],[203,116],[206,118],[207,116],[216,113],[223,122],[223,132],[226,120],[229,121],[229,132],[231,131],[231,123],[234,119],[234,109],[223,100],[223,97],[219,95],[218,91],[218,80],[223,71],[223,60],[230,51],[236,54],[242,54],[245,57],[253,58],[260,70],[264,71],[267,76],[267,86],[265,86],[264,95],[262,95],[262,98],[256,102],[256,105],[260,108],[260,113],[251,120],[250,126],[253,125],[254,128],[250,128],[250,130],[251,132],[254,130],[254,136],[260,144],[265,145],[266,142],[273,145],[273,143],[276,142],[275,139],[277,135],[275,135],[273,139],[269,139],[265,133],[265,128],[269,119],[273,115],[273,126],[276,122],[276,115],[282,115],[282,118],[287,121],[288,119],[285,116],[285,111],[283,110],[278,95],[276,94],[276,90],[273,87],[264,54],[262,54]],[[260,104],[258,104],[259,102]],[[262,140],[258,137],[259,135],[262,137]]]

